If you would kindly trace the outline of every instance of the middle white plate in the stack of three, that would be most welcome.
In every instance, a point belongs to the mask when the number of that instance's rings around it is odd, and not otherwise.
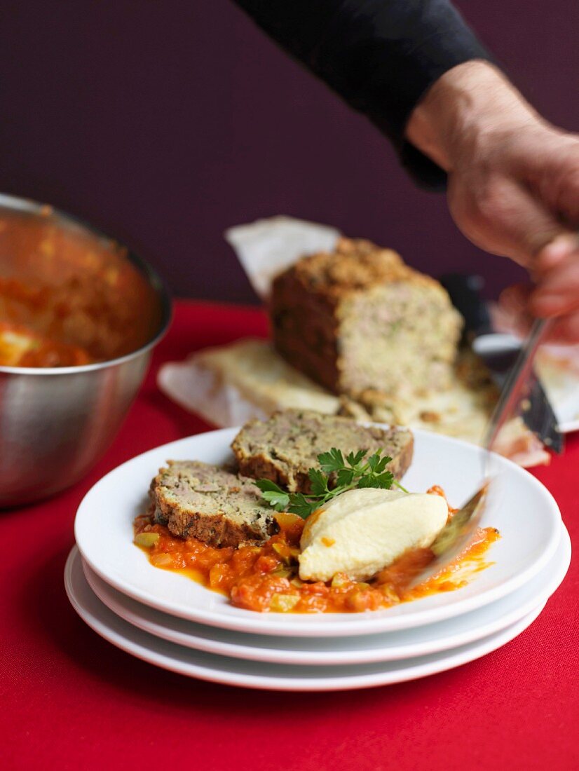
[[[571,540],[564,526],[551,561],[528,584],[507,597],[438,624],[379,635],[290,638],[246,635],[217,629],[149,608],[121,594],[83,565],[86,580],[101,602],[131,625],[163,640],[217,655],[278,664],[338,665],[391,662],[447,651],[480,640],[517,623],[550,598],[571,561]]]

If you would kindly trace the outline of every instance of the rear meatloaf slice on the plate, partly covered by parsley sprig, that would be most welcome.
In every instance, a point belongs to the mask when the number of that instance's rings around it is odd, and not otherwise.
[[[336,447],[343,453],[382,449],[392,456],[389,470],[401,479],[412,461],[409,429],[362,426],[351,418],[305,409],[284,409],[268,420],[251,420],[231,445],[240,473],[269,479],[291,492],[310,492],[308,470],[318,455]]]

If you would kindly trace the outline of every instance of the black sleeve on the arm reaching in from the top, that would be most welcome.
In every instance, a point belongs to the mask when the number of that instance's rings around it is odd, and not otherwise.
[[[444,187],[443,170],[406,142],[406,123],[444,72],[490,59],[448,0],[234,2],[389,136],[419,184]]]

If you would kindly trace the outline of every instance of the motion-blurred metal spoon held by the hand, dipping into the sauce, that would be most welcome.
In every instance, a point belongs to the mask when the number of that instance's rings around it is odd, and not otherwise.
[[[517,411],[520,403],[528,398],[528,391],[532,387],[530,373],[533,368],[533,359],[541,342],[547,336],[550,329],[550,322],[543,318],[538,318],[530,331],[527,342],[520,349],[517,362],[510,370],[507,381],[500,394],[497,406],[494,409],[490,419],[490,424],[486,432],[484,442],[484,483],[479,490],[456,511],[449,522],[439,532],[431,545],[430,549],[435,556],[434,560],[426,567],[425,571],[415,577],[409,588],[422,584],[433,577],[443,567],[449,565],[459,557],[466,546],[472,540],[476,528],[479,526],[480,517],[485,507],[486,495],[490,485],[490,459],[491,451],[500,429],[507,423],[513,414]]]

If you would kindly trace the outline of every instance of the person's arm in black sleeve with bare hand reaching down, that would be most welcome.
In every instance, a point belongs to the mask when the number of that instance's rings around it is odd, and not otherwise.
[[[389,136],[474,244],[530,269],[534,315],[579,342],[579,136],[542,119],[448,0],[237,0]],[[486,61],[485,61],[486,60]]]

